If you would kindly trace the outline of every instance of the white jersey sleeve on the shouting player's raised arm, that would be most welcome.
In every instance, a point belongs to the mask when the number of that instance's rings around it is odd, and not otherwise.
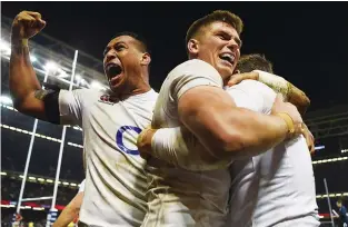
[[[82,95],[86,89],[60,90],[59,92],[59,112],[61,125],[82,124]]]

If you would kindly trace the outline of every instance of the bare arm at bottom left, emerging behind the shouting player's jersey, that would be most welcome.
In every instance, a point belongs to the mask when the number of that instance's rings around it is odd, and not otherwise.
[[[66,227],[68,226],[80,211],[80,207],[83,199],[83,191],[78,193],[68,206],[61,211],[58,219],[54,221],[53,227]]]

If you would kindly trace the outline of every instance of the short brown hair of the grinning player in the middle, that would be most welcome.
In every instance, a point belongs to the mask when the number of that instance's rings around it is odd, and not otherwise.
[[[188,43],[189,40],[192,39],[193,37],[196,37],[197,34],[199,34],[201,32],[202,28],[205,28],[205,27],[207,27],[210,23],[216,22],[216,21],[222,21],[222,22],[230,24],[231,27],[233,27],[236,29],[238,34],[240,34],[242,32],[243,24],[242,24],[241,19],[237,14],[233,14],[227,10],[216,10],[216,11],[207,14],[206,17],[202,17],[202,18],[196,20],[190,26],[190,28],[186,34],[186,43]]]

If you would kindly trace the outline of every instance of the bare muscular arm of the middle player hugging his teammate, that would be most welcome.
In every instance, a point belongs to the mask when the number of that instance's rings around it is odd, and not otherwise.
[[[266,151],[288,132],[280,117],[237,108],[220,88],[201,86],[188,90],[179,99],[178,110],[181,122],[216,157]]]

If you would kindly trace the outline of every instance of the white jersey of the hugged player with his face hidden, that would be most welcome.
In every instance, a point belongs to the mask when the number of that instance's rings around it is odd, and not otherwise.
[[[269,115],[276,92],[245,80],[226,89],[238,107]],[[229,227],[319,226],[315,177],[302,136],[231,165]]]

